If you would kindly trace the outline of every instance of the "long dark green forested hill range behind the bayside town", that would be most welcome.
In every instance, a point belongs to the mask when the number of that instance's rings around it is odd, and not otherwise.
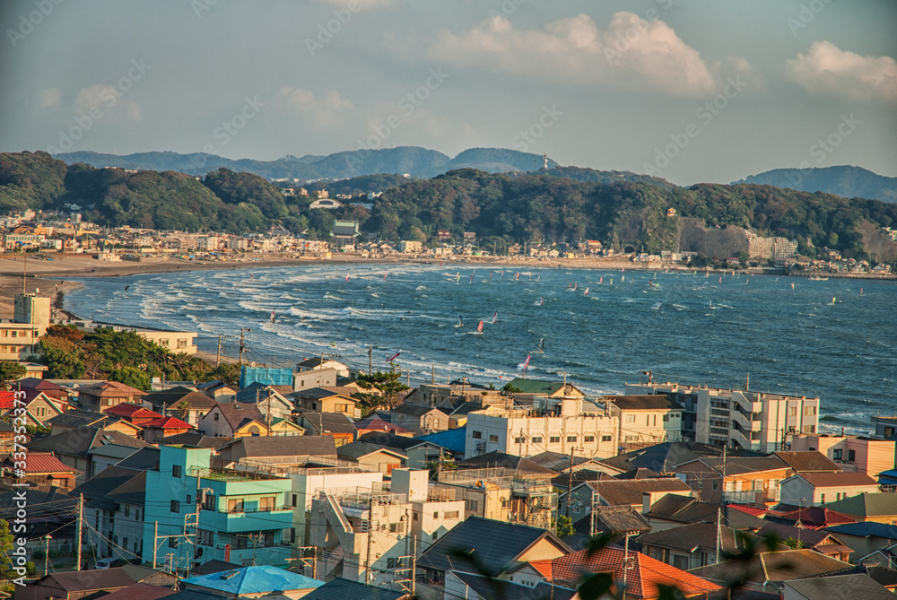
[[[464,169],[431,179],[386,178],[384,183],[401,185],[388,188],[371,212],[360,206],[325,211],[310,210],[308,196],[283,196],[250,173],[220,169],[198,180],[174,171],[66,167],[46,152],[20,152],[0,154],[0,211],[77,204],[87,219],[107,225],[239,233],[280,223],[319,238],[329,237],[335,219],[347,218],[358,220],[363,232],[392,240],[434,241],[438,230],[447,229],[474,231],[483,248],[598,239],[649,251],[677,248],[680,217],[686,217],[709,227],[736,225],[798,239],[809,256],[828,247],[848,257],[867,256],[864,235],[875,227],[897,225],[897,204],[878,200],[753,184],[664,187],[633,174],[569,171],[586,179],[579,180],[553,170],[524,175]],[[353,187],[351,180],[345,185]],[[666,216],[670,208],[677,217]]]

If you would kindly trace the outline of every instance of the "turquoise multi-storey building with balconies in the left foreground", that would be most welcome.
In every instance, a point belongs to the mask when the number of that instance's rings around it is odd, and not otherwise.
[[[155,544],[144,543],[145,562],[172,554],[172,566],[187,570],[196,563],[199,549],[203,561],[246,566],[283,561],[293,523],[289,479],[213,468],[210,448],[163,446],[160,452],[158,470],[146,472],[146,488],[153,491],[154,501],[146,505],[144,540],[153,539],[158,522],[158,535],[167,542],[158,552]],[[198,517],[190,517],[200,507]],[[191,518],[196,537],[187,540],[185,523]]]

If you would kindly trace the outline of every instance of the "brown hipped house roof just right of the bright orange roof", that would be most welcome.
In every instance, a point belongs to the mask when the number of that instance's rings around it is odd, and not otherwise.
[[[748,561],[730,559],[690,572],[722,585],[727,585],[729,581],[743,581],[745,590],[779,594],[787,580],[810,578],[849,567],[847,562],[805,548],[758,552]]]

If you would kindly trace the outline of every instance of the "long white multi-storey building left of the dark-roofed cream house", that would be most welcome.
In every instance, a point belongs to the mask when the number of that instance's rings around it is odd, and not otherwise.
[[[587,458],[616,456],[619,420],[604,412],[584,412],[583,406],[579,397],[536,398],[534,408],[489,407],[470,413],[464,456],[496,450],[518,457],[545,451]]]

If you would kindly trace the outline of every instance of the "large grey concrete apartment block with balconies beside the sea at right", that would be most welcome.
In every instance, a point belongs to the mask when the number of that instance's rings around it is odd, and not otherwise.
[[[626,384],[625,390],[627,395],[665,394],[682,406],[686,441],[774,452],[791,436],[819,428],[819,398],[670,382]]]

